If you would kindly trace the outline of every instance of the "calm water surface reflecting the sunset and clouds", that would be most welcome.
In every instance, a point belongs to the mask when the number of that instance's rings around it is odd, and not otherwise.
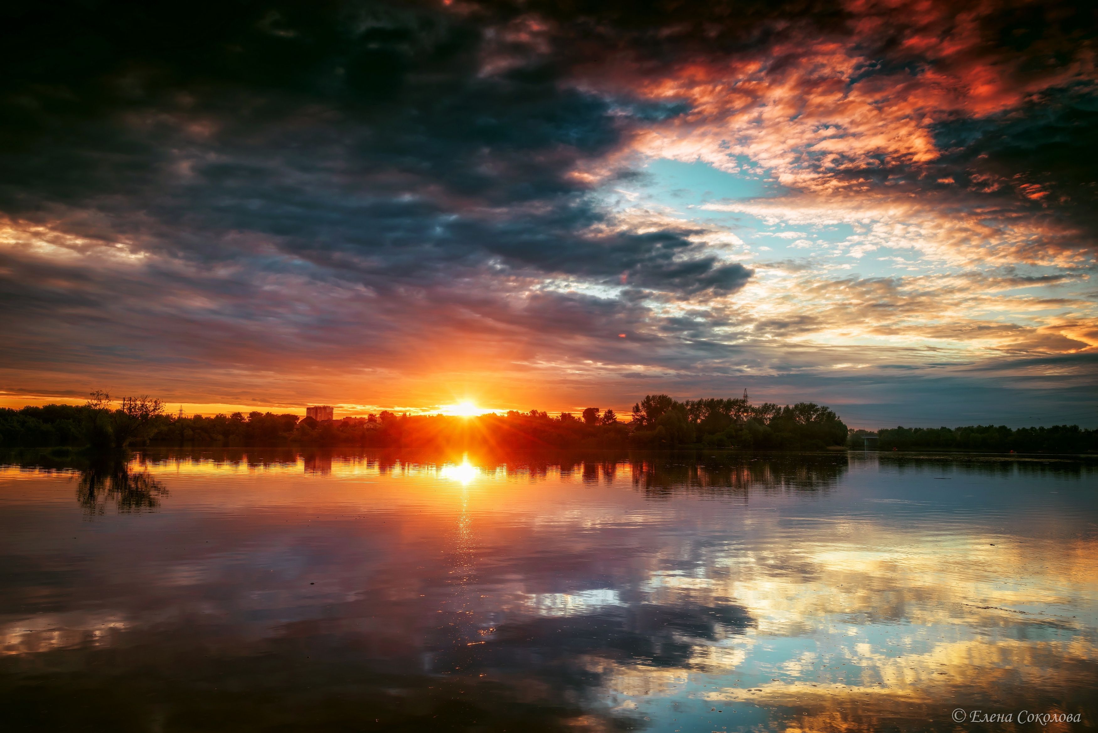
[[[1039,731],[1098,717],[1093,464],[71,465],[0,457],[3,730]],[[1013,722],[954,723],[957,708]]]

